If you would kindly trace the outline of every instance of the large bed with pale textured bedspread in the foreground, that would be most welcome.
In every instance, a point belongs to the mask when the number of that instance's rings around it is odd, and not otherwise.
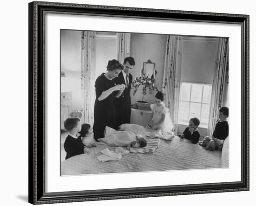
[[[149,137],[146,137],[150,141]],[[76,155],[61,162],[61,175],[107,174],[184,169],[229,167],[229,139],[222,151],[209,151],[199,144],[175,136],[171,141],[160,140],[154,153],[129,153],[118,161],[99,161],[100,151],[115,148],[98,144],[87,154]]]

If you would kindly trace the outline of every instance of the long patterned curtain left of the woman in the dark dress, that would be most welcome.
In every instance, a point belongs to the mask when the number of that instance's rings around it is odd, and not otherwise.
[[[96,32],[82,32],[81,39],[81,108],[83,112],[82,122],[88,122],[91,126],[94,122],[94,93],[95,70],[94,48]]]

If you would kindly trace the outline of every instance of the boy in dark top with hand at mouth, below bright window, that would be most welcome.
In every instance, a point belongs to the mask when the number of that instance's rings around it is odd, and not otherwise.
[[[200,133],[197,128],[200,124],[198,118],[194,117],[189,120],[189,127],[187,127],[182,135],[179,135],[180,138],[185,138],[191,140],[193,144],[196,144],[200,138]]]

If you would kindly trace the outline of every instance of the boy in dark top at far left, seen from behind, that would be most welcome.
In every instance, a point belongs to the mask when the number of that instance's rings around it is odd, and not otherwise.
[[[64,142],[64,149],[67,152],[66,160],[75,155],[81,155],[85,153],[85,146],[78,137],[78,132],[81,130],[81,122],[78,117],[69,117],[64,121],[64,128],[67,129],[68,135]]]

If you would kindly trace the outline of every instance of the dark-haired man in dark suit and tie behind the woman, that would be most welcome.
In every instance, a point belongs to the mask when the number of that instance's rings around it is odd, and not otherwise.
[[[133,77],[130,71],[135,65],[135,60],[132,57],[127,57],[123,62],[123,70],[119,73],[118,77],[114,79],[115,84],[125,84],[122,95],[116,98],[115,109],[116,109],[116,125],[119,127],[121,124],[130,123],[131,119],[131,97],[130,90]]]

